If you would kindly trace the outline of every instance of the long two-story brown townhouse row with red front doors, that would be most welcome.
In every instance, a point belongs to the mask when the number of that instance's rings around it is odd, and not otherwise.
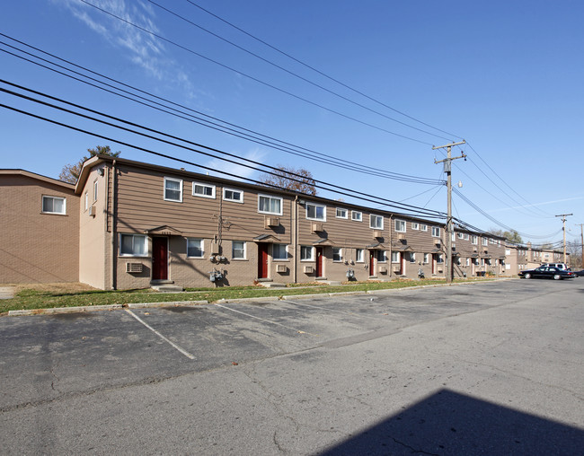
[[[69,228],[78,272],[67,280],[97,288],[446,273],[444,225],[411,216],[102,155],[84,162],[75,191],[57,185],[69,191],[67,215],[78,215]],[[500,239],[455,235],[455,276],[500,273]]]

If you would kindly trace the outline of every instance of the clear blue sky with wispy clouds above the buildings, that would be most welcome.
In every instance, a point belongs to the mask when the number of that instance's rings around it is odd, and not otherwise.
[[[584,223],[580,1],[87,3],[127,22],[79,0],[38,1],[34,7],[29,1],[9,2],[0,15],[0,32],[9,38],[0,40],[25,48],[12,40],[18,39],[203,115],[334,158],[314,162],[226,135],[6,52],[0,53],[2,79],[237,156],[304,167],[317,180],[442,212],[444,186],[358,171],[368,166],[440,180],[442,166],[434,160],[444,155],[432,145],[465,138],[468,145],[453,148],[453,154],[465,152],[468,160],[455,162],[453,180],[463,182],[458,192],[474,207],[455,194],[453,215],[482,230],[510,227],[524,241],[539,243],[560,241],[562,223],[554,215],[573,213],[568,239],[580,237],[575,226]],[[0,49],[22,56],[6,44]],[[213,170],[261,175],[4,92],[0,99]],[[111,145],[124,158],[203,171],[4,108],[0,126],[2,168],[57,178],[63,165],[76,162],[87,148]],[[355,164],[333,166],[341,160]]]

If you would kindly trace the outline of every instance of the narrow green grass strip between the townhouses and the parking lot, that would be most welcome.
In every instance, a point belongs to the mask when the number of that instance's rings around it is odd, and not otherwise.
[[[473,279],[456,279],[456,283]],[[482,279],[485,280],[485,279]],[[489,280],[489,279],[486,279]],[[420,285],[444,284],[442,280],[394,280],[392,282],[361,282],[346,285],[287,286],[286,288],[263,288],[261,286],[230,286],[218,288],[188,288],[183,293],[157,293],[150,289],[103,291],[88,287],[67,284],[49,286],[20,286],[13,299],[0,301],[0,314],[7,311],[49,309],[86,305],[128,304],[128,303],[166,303],[185,301],[207,301],[213,303],[222,299],[284,296],[291,294],[327,294],[385,290]]]

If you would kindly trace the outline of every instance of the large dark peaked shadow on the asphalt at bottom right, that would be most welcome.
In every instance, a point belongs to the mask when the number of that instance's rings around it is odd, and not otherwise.
[[[440,390],[322,456],[582,454],[584,430]]]

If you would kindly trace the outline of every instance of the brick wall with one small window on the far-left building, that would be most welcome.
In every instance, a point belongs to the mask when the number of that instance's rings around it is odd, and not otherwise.
[[[74,186],[0,170],[0,283],[77,282],[78,211]]]

